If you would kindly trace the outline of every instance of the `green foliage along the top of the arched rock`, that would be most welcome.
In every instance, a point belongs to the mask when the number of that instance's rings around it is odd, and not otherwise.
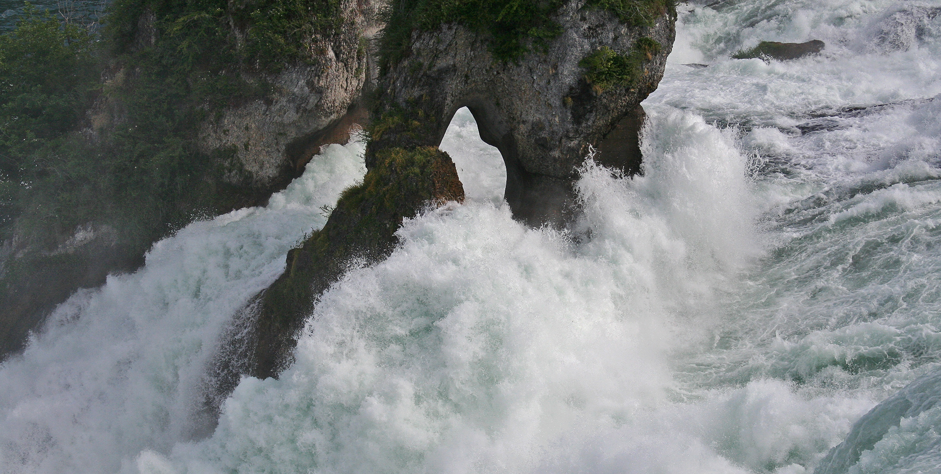
[[[561,32],[552,15],[563,0],[392,0],[381,41],[383,71],[398,63],[411,46],[412,32],[441,24],[461,24],[486,34],[499,61],[518,60]]]

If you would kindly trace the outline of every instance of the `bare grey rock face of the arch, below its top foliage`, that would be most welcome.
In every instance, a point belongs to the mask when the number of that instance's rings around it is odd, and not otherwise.
[[[631,130],[619,139],[636,136],[639,104],[659,84],[673,45],[675,12],[662,8],[652,25],[630,26],[572,0],[556,21],[561,34],[545,52],[518,62],[497,60],[486,34],[460,24],[415,31],[403,59],[379,79],[370,150],[438,146],[467,106],[481,138],[502,153],[514,215],[534,226],[564,223],[588,146],[625,119],[621,128]],[[635,171],[633,153],[611,157],[612,164]]]

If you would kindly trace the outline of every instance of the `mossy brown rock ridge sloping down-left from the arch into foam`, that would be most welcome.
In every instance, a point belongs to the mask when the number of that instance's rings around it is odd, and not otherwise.
[[[263,292],[253,375],[277,375],[320,293],[349,265],[386,258],[403,219],[428,203],[464,198],[454,162],[436,147],[378,150],[373,163],[362,183],[343,192],[324,228],[288,253],[284,274]]]

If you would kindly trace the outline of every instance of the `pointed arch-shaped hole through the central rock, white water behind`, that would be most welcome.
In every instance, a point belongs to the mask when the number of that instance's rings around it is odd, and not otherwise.
[[[451,119],[441,139],[441,150],[447,151],[457,166],[457,176],[464,184],[464,193],[471,199],[503,200],[506,188],[506,165],[500,150],[480,138],[477,121],[470,109],[462,107]]]

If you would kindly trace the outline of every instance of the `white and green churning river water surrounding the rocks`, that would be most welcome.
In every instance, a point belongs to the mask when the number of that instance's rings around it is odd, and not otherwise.
[[[362,175],[331,146],[58,308],[0,367],[0,472],[938,471],[941,2],[681,10],[645,175],[586,164],[573,233],[512,220],[461,111],[468,201],[331,287],[294,366],[199,436],[219,334]]]

